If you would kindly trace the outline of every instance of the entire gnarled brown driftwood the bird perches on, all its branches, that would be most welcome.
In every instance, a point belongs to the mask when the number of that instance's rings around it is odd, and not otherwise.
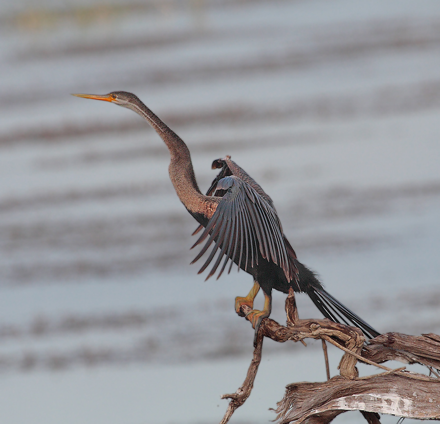
[[[250,310],[242,306],[242,313]],[[400,333],[382,334],[364,345],[361,330],[334,323],[328,319],[302,320],[298,317],[293,290],[286,300],[287,325],[264,319],[258,334],[257,347],[246,379],[233,395],[224,395],[231,402],[221,421],[226,424],[239,406],[249,397],[261,360],[264,337],[278,342],[303,341],[305,338],[328,341],[344,351],[339,364],[340,376],[320,383],[294,383],[286,387],[286,394],[278,402],[280,424],[330,423],[337,415],[359,410],[368,423],[380,424],[378,413],[417,419],[440,419],[440,378],[396,370],[380,363],[390,359],[404,363],[426,365],[439,376],[440,337],[436,334],[409,336]],[[374,365],[384,373],[358,377],[357,361]],[[437,371],[437,372],[436,372]],[[430,373],[430,374],[431,374]]]

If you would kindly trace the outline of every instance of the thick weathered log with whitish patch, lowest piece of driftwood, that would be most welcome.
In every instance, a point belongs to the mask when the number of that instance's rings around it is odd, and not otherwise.
[[[300,424],[314,415],[338,410],[440,419],[440,379],[418,376],[399,372],[355,380],[336,376],[323,383],[290,384],[278,403],[278,419],[280,424]]]

